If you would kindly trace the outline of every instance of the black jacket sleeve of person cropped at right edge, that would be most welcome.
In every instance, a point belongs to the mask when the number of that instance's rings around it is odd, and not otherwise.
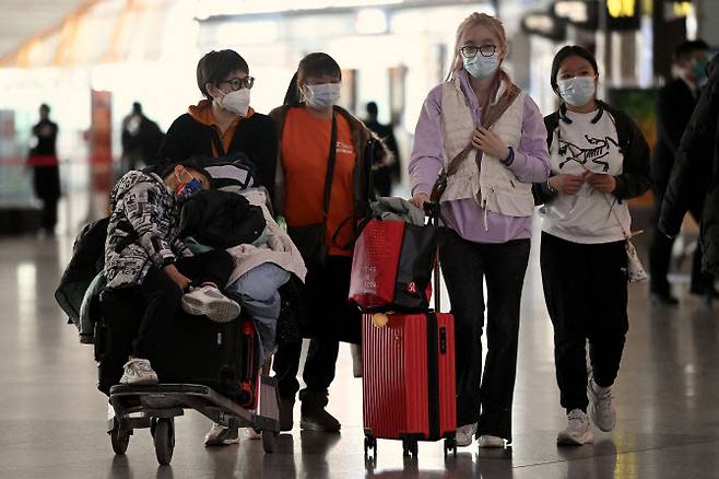
[[[699,103],[676,150],[669,187],[659,218],[659,230],[674,236],[684,215],[697,198],[706,196],[712,177],[712,145],[716,141],[719,110],[719,82],[711,82],[702,91]]]

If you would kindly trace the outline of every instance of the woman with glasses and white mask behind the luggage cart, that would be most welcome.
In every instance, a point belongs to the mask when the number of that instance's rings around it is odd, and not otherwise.
[[[205,98],[173,122],[157,157],[182,161],[244,153],[273,199],[275,129],[270,117],[249,106],[255,78],[247,62],[234,50],[210,51],[198,62],[197,82]]]

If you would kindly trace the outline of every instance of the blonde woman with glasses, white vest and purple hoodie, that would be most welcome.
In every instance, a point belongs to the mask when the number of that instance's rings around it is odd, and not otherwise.
[[[450,74],[424,102],[409,165],[411,201],[422,207],[434,189],[446,223],[439,258],[455,315],[460,446],[474,435],[480,447],[511,443],[531,185],[550,172],[542,116],[502,68],[506,55],[497,19],[473,13],[459,25]],[[433,188],[443,170],[444,191]]]

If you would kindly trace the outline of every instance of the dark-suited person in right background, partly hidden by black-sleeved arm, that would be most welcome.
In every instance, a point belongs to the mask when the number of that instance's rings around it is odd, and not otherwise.
[[[656,221],[659,221],[661,205],[669,185],[669,177],[676,157],[682,135],[689,121],[699,97],[699,87],[707,79],[705,67],[709,46],[700,39],[683,42],[674,51],[676,78],[659,91],[657,102],[657,148],[651,162],[655,179]],[[697,178],[702,180],[702,178]],[[698,185],[697,185],[698,186]],[[688,211],[697,222],[702,218],[703,198],[696,195],[702,188],[687,190],[691,197]],[[676,305],[679,300],[672,294],[667,273],[672,257],[674,240],[659,230],[655,231],[649,246],[649,299],[656,305]],[[692,260],[692,294],[717,297],[711,277],[702,272],[702,248],[697,246]]]

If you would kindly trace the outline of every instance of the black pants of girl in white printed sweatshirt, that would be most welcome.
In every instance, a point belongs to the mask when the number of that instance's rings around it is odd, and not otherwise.
[[[598,385],[614,384],[627,317],[624,242],[579,244],[542,233],[544,299],[554,325],[554,361],[561,404],[587,411],[587,350]]]

